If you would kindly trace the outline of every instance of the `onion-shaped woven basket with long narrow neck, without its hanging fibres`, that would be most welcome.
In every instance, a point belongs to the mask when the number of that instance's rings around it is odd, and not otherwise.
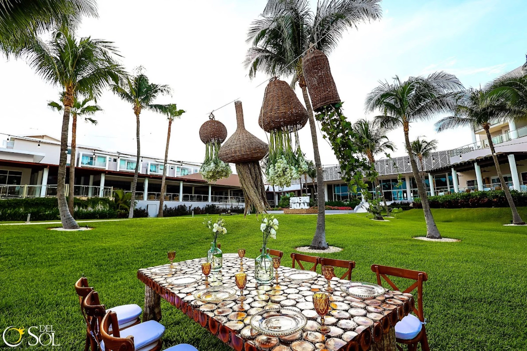
[[[222,145],[218,157],[227,163],[260,161],[269,151],[269,147],[245,129],[241,101],[236,101],[234,104],[238,128]]]

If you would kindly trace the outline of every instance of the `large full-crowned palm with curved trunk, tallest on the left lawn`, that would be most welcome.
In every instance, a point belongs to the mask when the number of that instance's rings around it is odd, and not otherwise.
[[[70,112],[76,96],[100,95],[112,81],[119,81],[124,71],[113,58],[117,51],[112,42],[91,37],[77,39],[65,26],[55,30],[47,43],[37,41],[22,54],[27,55],[28,63],[45,81],[60,86],[64,92],[57,200],[62,226],[77,229],[79,226],[71,216],[64,193]]]

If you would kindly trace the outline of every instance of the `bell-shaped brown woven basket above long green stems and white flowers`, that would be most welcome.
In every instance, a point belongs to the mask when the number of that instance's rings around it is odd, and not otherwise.
[[[271,130],[294,132],[304,127],[307,119],[306,108],[289,84],[276,77],[271,79],[265,90],[258,125],[268,133]]]

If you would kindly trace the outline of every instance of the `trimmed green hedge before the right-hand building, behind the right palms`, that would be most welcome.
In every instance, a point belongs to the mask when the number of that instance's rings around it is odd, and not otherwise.
[[[516,206],[527,206],[527,193],[511,190]],[[503,190],[458,192],[428,198],[431,208],[475,208],[475,207],[509,207]],[[413,202],[413,208],[423,208],[421,200]]]

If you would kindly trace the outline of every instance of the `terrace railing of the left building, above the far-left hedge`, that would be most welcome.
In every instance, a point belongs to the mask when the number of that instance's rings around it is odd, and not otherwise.
[[[41,196],[42,192],[41,185],[24,185],[24,186],[15,186],[15,185],[6,185],[0,186],[0,199],[15,199],[15,198],[40,198],[40,197],[56,197],[57,196],[57,186],[56,185],[47,185],[45,186],[45,193]],[[66,184],[65,193],[69,193],[70,184]],[[94,186],[80,186],[76,185],[73,189],[73,194],[75,197],[87,197],[87,198],[98,198],[100,197],[101,187]],[[113,187],[104,187],[102,191],[103,198],[111,198],[113,194]]]

